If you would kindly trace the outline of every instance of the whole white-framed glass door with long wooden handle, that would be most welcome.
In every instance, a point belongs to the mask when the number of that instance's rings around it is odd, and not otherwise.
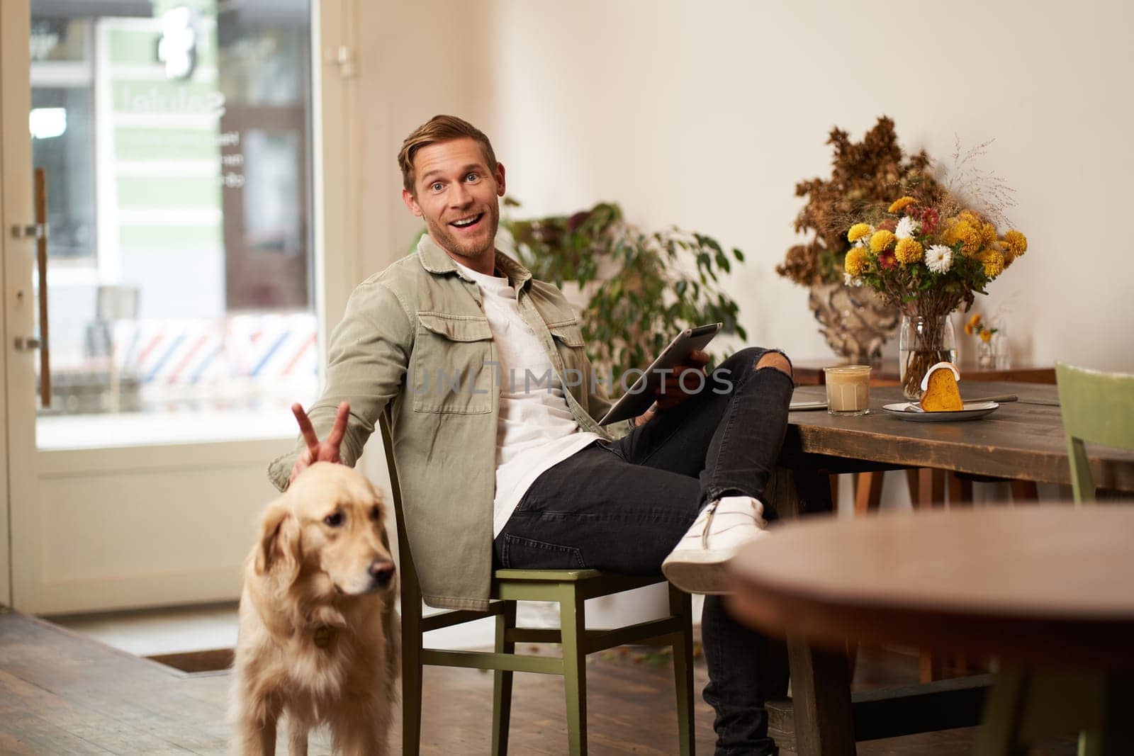
[[[0,9],[6,227],[27,232],[3,247],[19,609],[238,595],[264,467],[319,384],[312,5]],[[37,171],[42,280],[12,202]]]

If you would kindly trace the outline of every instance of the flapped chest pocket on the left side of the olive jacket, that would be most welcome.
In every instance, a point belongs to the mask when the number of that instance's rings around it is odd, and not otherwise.
[[[492,330],[486,317],[417,314],[407,383],[415,413],[484,415],[494,389]]]

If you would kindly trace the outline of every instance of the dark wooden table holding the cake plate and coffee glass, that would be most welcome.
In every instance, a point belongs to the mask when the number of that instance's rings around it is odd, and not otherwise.
[[[792,411],[777,475],[765,495],[778,517],[832,510],[828,476],[911,467],[978,476],[1069,484],[1067,447],[1053,385],[964,382],[964,396],[1014,393],[1018,401],[966,422],[912,422],[886,413],[905,401],[898,387],[873,387],[870,413],[833,416]],[[797,387],[794,400],[822,400],[823,387]],[[1088,445],[1100,489],[1134,492],[1134,453]],[[990,678],[941,680],[902,690],[850,696],[845,653],[788,632],[793,700],[771,711],[801,754],[853,754],[856,740],[975,725]],[[789,722],[787,720],[790,720]],[[781,734],[781,738],[785,737]]]

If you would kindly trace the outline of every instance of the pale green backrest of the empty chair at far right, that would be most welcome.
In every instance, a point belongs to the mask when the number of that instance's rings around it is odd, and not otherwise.
[[[1059,410],[1076,502],[1094,501],[1083,442],[1134,451],[1134,375],[1056,363]]]

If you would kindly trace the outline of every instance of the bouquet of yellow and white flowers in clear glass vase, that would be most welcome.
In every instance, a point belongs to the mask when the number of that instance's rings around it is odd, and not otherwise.
[[[921,317],[920,345],[903,350],[903,389],[917,396],[925,371],[942,354],[946,316],[1012,266],[1027,250],[1017,230],[1002,235],[979,212],[963,207],[951,194],[933,204],[903,196],[889,205],[869,209],[847,231],[853,245],[844,260],[848,286],[868,286],[902,308]]]

